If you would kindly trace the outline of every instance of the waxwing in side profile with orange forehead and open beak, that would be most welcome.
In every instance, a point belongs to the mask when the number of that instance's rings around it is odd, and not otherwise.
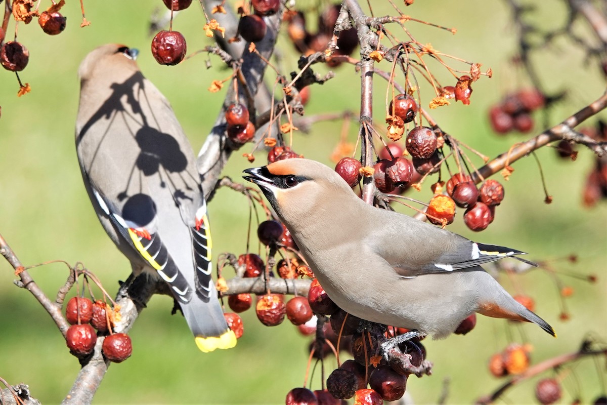
[[[444,338],[467,316],[539,325],[480,267],[521,251],[483,245],[359,199],[333,169],[293,158],[245,170],[285,223],[314,276],[343,310]]]

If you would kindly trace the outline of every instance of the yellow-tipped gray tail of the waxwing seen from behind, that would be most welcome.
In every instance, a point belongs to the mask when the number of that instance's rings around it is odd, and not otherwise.
[[[203,301],[198,294],[192,294],[188,302],[178,300],[181,312],[194,333],[198,349],[208,353],[215,349],[231,349],[236,346],[236,335],[228,327],[222,308],[215,297]]]

